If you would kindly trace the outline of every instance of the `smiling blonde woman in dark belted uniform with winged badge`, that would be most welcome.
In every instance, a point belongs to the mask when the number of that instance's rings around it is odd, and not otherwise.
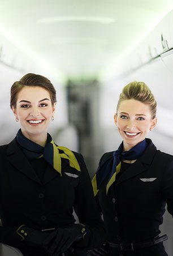
[[[166,256],[159,225],[173,215],[173,156],[146,138],[157,124],[157,103],[143,82],[123,88],[114,116],[123,139],[105,153],[93,178],[106,225],[106,243],[91,255]]]

